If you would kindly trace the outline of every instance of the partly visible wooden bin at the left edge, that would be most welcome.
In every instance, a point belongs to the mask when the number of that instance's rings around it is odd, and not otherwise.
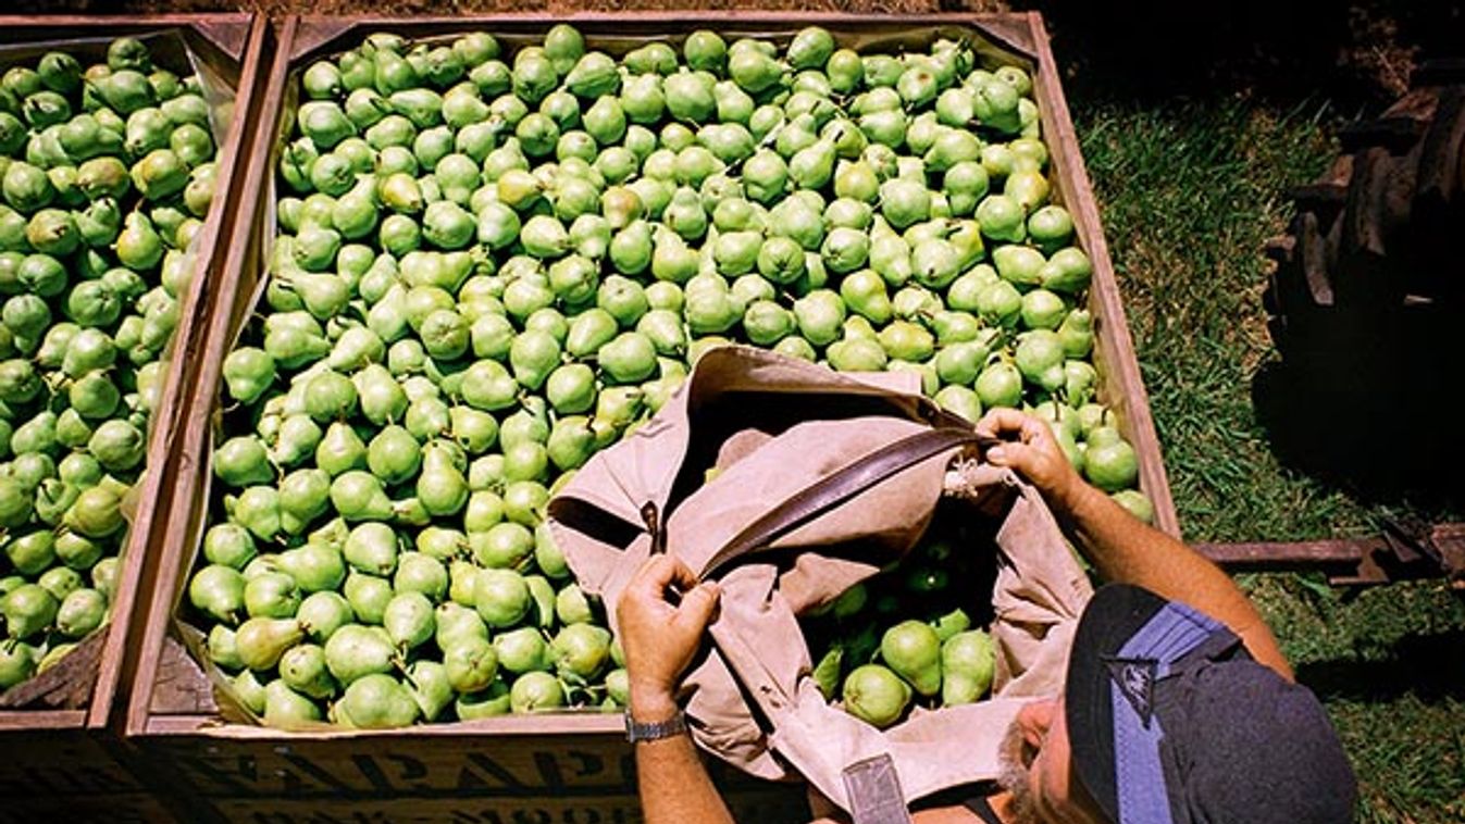
[[[158,408],[151,424],[146,464],[138,509],[123,546],[123,559],[110,622],[86,638],[53,670],[12,689],[0,708],[0,795],[6,804],[0,821],[37,821],[64,812],[72,820],[133,821],[166,817],[158,801],[145,792],[127,751],[107,732],[119,716],[113,704],[119,688],[130,683],[129,640],[133,618],[146,600],[145,581],[154,575],[152,525],[170,503],[166,461],[179,432],[185,400],[183,375],[204,328],[202,296],[214,280],[218,240],[231,224],[229,198],[236,176],[239,145],[248,133],[245,113],[267,31],[262,16],[249,13],[160,16],[0,16],[0,48],[38,57],[50,47],[101,59],[108,38],[167,35],[180,38],[199,70],[233,89],[227,124],[218,145],[214,206],[199,234],[193,278],[180,306],[173,354]],[[186,64],[179,70],[189,70]],[[166,523],[166,518],[158,518]]]

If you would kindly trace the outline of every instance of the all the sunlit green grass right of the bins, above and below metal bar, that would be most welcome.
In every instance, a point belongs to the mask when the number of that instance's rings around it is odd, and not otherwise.
[[[1326,110],[1074,102],[1185,536],[1301,540],[1414,514],[1286,468],[1253,407],[1253,378],[1276,357],[1261,249],[1291,217],[1286,187],[1336,152]],[[1326,703],[1358,773],[1360,820],[1465,818],[1465,600],[1433,581],[1242,585]]]

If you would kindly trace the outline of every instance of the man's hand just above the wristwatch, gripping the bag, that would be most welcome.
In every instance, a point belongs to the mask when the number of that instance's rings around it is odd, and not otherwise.
[[[677,606],[667,600],[671,585],[681,591]],[[615,618],[637,722],[662,722],[675,713],[677,681],[697,653],[718,594],[716,584],[699,584],[691,569],[670,555],[646,561],[621,593]]]

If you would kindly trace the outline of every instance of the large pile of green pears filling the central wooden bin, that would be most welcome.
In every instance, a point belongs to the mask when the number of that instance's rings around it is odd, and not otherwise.
[[[188,591],[267,724],[623,705],[545,503],[721,344],[1033,405],[1143,503],[1026,72],[820,28],[590,45],[372,34],[294,76]]]

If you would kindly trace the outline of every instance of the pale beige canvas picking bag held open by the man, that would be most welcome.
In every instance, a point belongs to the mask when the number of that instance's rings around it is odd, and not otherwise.
[[[856,821],[901,821],[910,801],[998,777],[1017,710],[1062,689],[1091,594],[1037,492],[967,457],[971,424],[894,388],[905,378],[713,350],[549,502],[549,528],[612,628],[653,552],[718,581],[713,645],[680,695],[696,742],[763,779],[801,776]],[[943,495],[1001,520],[992,697],[879,730],[819,692],[797,616],[898,561]]]

